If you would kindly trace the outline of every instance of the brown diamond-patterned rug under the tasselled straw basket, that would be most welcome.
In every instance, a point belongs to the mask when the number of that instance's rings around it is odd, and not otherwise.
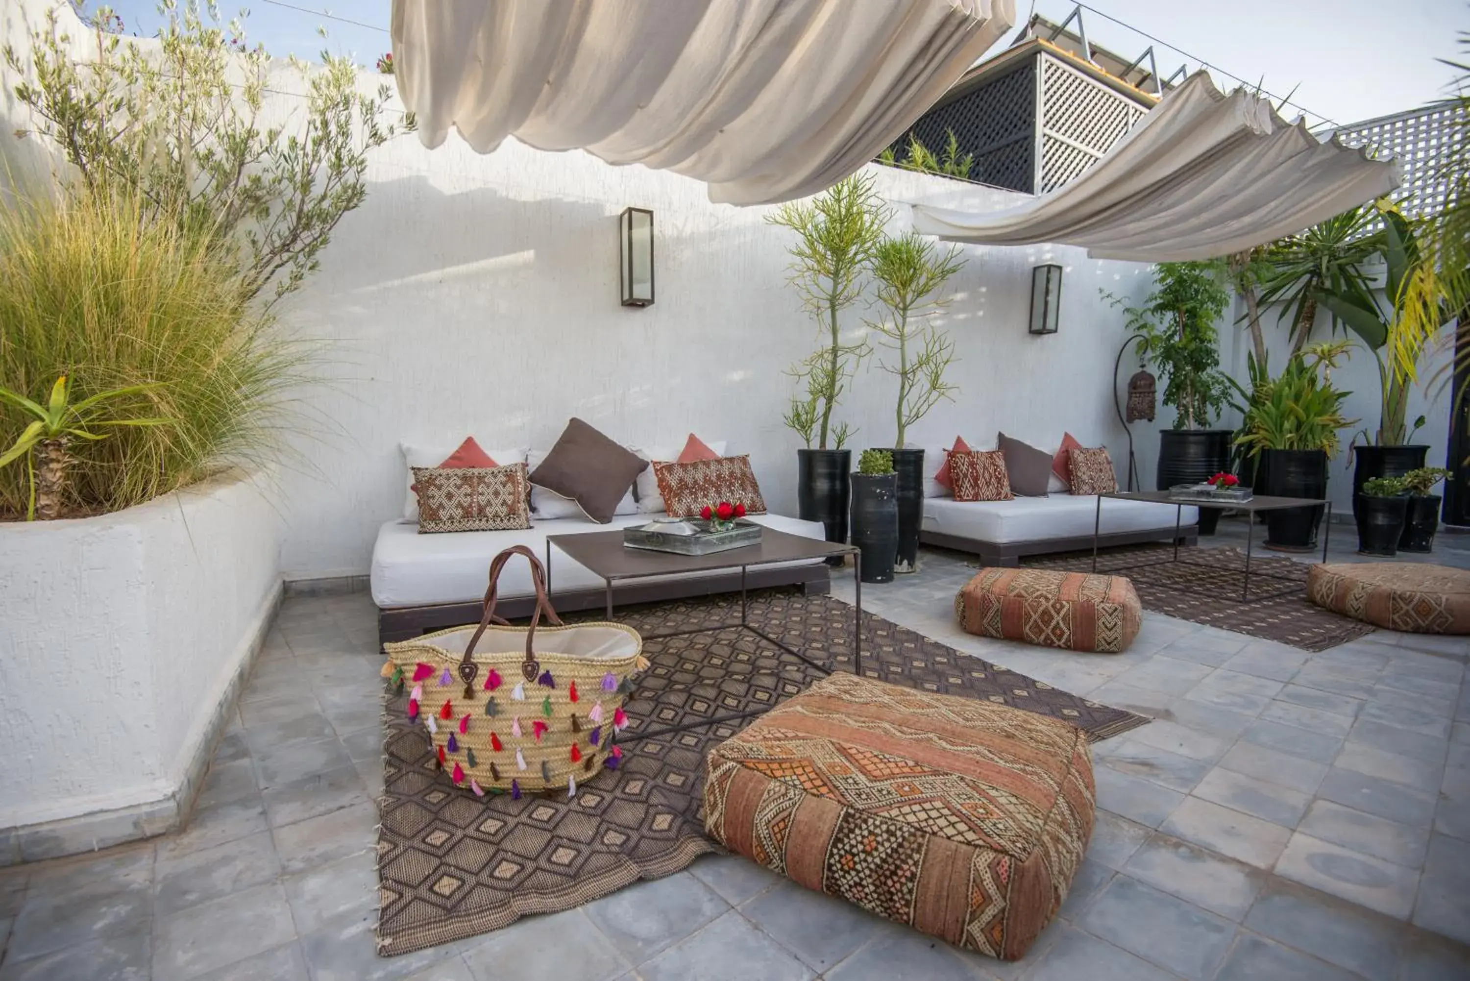
[[[589,619],[569,616],[569,621]],[[409,722],[406,696],[385,700],[382,825],[378,835],[378,952],[384,956],[507,927],[672,875],[719,846],[704,837],[706,752],[748,724],[701,719],[766,709],[822,674],[739,627],[738,597],[628,607],[642,634],[716,627],[650,640],[651,665],[626,704],[623,760],[564,793],[475,797],[435,771],[426,732]],[[853,607],[794,590],[751,594],[750,624],[816,662],[853,669]],[[863,616],[863,674],[894,684],[989,699],[1073,722],[1104,740],[1148,722]]]

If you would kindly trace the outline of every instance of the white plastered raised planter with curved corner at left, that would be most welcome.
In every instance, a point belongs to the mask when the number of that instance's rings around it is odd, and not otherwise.
[[[281,519],[226,474],[0,524],[0,865],[176,828],[281,597]]]

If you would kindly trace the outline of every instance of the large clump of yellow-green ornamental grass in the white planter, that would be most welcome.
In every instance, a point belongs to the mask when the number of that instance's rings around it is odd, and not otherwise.
[[[71,403],[113,393],[107,419],[132,424],[71,443],[71,513],[129,507],[259,462],[294,418],[287,390],[310,352],[250,303],[209,228],[146,221],[154,207],[143,194],[82,190],[0,210],[6,388],[34,399],[66,375]],[[21,440],[32,415],[0,403],[0,447]],[[0,469],[0,512],[25,515],[29,499],[28,468]]]

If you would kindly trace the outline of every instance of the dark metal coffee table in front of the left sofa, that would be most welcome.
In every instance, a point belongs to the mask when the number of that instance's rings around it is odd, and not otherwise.
[[[675,554],[672,552],[653,552],[648,549],[629,549],[623,544],[623,532],[619,531],[594,531],[579,535],[548,535],[547,537],[547,591],[551,591],[551,546],[564,553],[567,557],[579,562],[589,572],[597,575],[603,581],[603,588],[606,591],[606,615],[607,619],[613,619],[613,585],[617,582],[629,582],[634,579],[647,579],[657,575],[681,575],[691,572],[717,572],[723,569],[739,569],[739,622],[738,624],[720,624],[716,627],[695,627],[691,629],[676,629],[666,634],[644,634],[644,640],[662,640],[666,637],[686,637],[689,634],[706,634],[717,629],[729,629],[738,627],[741,629],[750,631],[751,634],[760,637],[767,644],[772,644],[776,650],[791,654],[807,665],[816,668],[823,674],[832,674],[828,665],[817,663],[811,660],[800,650],[786,646],[785,643],[776,640],[766,631],[753,625],[747,618],[747,590],[745,590],[745,571],[751,568],[776,565],[779,562],[801,562],[803,559],[829,559],[833,556],[853,556],[854,571],[854,621],[853,621],[853,669],[856,674],[863,674],[863,557],[856,546],[835,544],[831,541],[822,541],[817,538],[804,538],[801,535],[786,534],[785,531],[776,531],[775,528],[761,528],[760,541],[750,546],[742,546],[739,549],[729,549],[728,552],[716,552],[706,556],[685,556]],[[703,728],[706,725],[714,725],[716,722],[731,722],[735,719],[748,719],[756,715],[764,713],[766,709],[756,709],[751,712],[736,712],[734,715],[723,715],[711,719],[700,719],[697,722],[686,722],[682,725],[675,725],[663,729],[656,729],[651,732],[639,732],[632,737],[632,740],[645,740],[654,735],[667,735],[670,732],[682,732],[684,729]],[[626,740],[625,741],[631,741]]]

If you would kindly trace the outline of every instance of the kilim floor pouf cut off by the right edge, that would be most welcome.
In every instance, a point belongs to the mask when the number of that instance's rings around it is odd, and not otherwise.
[[[1470,634],[1470,572],[1417,562],[1314,565],[1317,606],[1411,634]]]

